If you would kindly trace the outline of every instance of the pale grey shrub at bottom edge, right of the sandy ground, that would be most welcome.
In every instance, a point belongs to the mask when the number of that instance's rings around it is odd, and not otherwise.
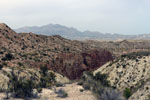
[[[98,100],[126,100],[122,93],[117,90],[105,89],[105,91],[99,96]]]

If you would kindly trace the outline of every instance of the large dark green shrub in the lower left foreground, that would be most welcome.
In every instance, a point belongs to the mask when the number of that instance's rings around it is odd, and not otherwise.
[[[9,92],[15,98],[33,97],[33,88],[35,84],[32,80],[18,79],[12,71],[10,76]]]

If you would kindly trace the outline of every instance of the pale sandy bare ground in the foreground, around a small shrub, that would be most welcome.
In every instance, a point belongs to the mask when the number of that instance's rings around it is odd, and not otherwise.
[[[68,94],[66,98],[60,98],[55,93],[55,91],[63,89]],[[28,99],[28,100],[97,100],[96,97],[92,94],[91,91],[84,90],[81,92],[80,90],[83,89],[82,86],[77,85],[77,83],[66,84],[62,87],[56,87],[55,89],[43,89],[41,98],[39,99]],[[4,100],[3,98],[5,95],[0,93],[0,100]],[[23,99],[9,99],[9,100],[23,100]]]

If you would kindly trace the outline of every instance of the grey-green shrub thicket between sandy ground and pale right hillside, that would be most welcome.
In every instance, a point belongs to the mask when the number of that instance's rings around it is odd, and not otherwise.
[[[83,74],[81,82],[84,89],[91,90],[98,100],[125,100],[121,92],[110,86],[106,74],[97,73],[93,75],[86,72]]]

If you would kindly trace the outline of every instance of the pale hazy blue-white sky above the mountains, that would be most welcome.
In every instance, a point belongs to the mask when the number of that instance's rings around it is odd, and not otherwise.
[[[49,23],[103,33],[150,33],[150,0],[0,0],[12,28]]]

